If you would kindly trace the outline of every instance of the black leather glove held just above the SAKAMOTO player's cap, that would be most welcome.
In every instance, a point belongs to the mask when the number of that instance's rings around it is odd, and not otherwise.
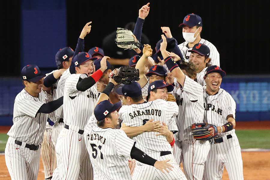
[[[122,84],[131,84],[132,81],[138,81],[139,78],[139,69],[135,69],[134,67],[122,66],[117,69],[114,69],[109,77],[113,78],[115,82]]]

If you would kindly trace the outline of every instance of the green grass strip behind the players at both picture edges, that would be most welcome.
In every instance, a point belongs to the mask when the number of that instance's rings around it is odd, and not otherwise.
[[[270,149],[270,130],[236,130],[241,149]],[[5,151],[7,134],[0,134],[0,152]]]

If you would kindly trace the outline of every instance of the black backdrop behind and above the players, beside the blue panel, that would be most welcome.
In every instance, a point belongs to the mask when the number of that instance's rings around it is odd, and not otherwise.
[[[85,51],[101,46],[102,39],[117,27],[136,22],[138,10],[147,2],[150,2],[150,13],[143,33],[150,39],[152,48],[160,39],[161,26],[169,26],[173,37],[182,43],[182,29],[178,25],[188,13],[195,13],[202,17],[201,37],[216,46],[220,66],[227,74],[269,74],[269,6],[265,1],[66,1],[67,45],[75,49],[83,26],[92,21],[91,32],[85,38]],[[15,0],[1,3],[0,74],[18,76],[22,48],[21,3]]]

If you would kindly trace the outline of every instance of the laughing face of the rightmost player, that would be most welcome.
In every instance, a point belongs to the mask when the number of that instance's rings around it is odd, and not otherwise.
[[[206,91],[209,95],[217,93],[220,84],[222,82],[222,76],[220,73],[209,73],[205,78],[206,82]]]

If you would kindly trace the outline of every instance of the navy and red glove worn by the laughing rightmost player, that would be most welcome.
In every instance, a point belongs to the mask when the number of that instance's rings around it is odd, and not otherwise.
[[[214,136],[208,130],[211,127],[214,129]],[[196,140],[208,141],[217,136],[217,127],[208,123],[193,124],[191,126],[191,133]]]

